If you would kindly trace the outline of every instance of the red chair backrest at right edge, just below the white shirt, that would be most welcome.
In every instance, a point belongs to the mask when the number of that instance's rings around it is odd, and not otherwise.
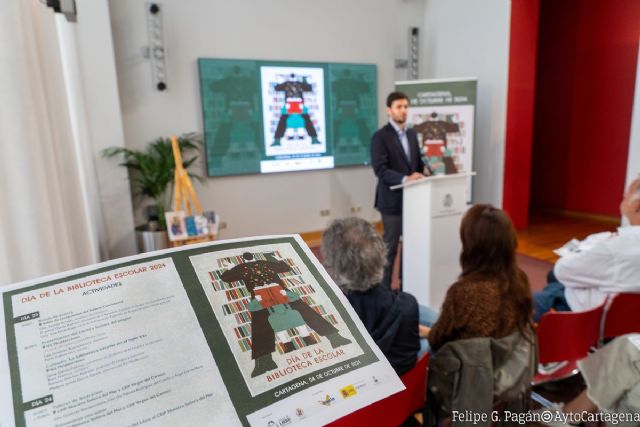
[[[640,294],[618,294],[605,311],[602,338],[632,332],[640,332]]]

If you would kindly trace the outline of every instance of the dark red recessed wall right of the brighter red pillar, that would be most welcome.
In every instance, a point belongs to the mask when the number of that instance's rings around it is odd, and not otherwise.
[[[618,216],[640,1],[540,0],[531,204]]]

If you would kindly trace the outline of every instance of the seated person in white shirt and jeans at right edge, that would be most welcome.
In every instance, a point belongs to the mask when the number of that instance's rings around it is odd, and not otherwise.
[[[563,256],[549,274],[547,286],[533,295],[534,320],[551,308],[582,311],[620,292],[640,293],[640,178],[620,203],[629,225],[617,233],[589,236],[578,251]]]

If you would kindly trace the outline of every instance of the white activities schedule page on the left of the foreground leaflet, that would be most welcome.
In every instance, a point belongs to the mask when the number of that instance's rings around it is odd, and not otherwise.
[[[11,387],[2,390],[13,391],[3,426],[235,415],[171,258],[17,289],[3,303]]]

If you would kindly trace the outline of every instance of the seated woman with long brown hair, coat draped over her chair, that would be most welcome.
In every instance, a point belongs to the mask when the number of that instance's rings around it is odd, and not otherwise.
[[[434,354],[425,426],[456,413],[491,414],[496,402],[513,413],[528,409],[533,308],[527,276],[516,266],[513,225],[500,209],[476,205],[462,219],[460,238],[462,273],[428,336]]]

